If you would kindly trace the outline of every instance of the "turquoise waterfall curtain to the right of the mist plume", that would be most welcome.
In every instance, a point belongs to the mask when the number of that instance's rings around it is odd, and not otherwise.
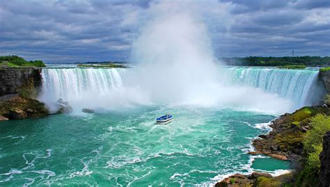
[[[251,86],[294,101],[296,108],[317,103],[323,92],[317,82],[318,71],[283,70],[263,67],[222,67],[223,82]],[[320,87],[320,88],[319,88]],[[310,97],[313,95],[314,97]]]

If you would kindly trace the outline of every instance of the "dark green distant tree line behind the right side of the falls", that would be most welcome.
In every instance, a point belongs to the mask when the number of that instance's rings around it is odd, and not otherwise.
[[[247,65],[247,66],[286,66],[299,65],[303,66],[327,66],[330,65],[329,56],[283,56],[283,57],[262,57],[262,56],[246,56],[243,58],[221,58],[227,65]],[[290,67],[290,66],[289,66]],[[288,68],[289,68],[288,67]],[[294,69],[297,69],[294,67]],[[293,67],[292,67],[293,68]],[[299,68],[299,69],[300,69]]]

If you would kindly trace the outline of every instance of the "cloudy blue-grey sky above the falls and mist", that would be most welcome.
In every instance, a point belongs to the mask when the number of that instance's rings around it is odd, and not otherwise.
[[[0,55],[46,63],[126,61],[159,4],[205,24],[217,57],[291,56],[292,50],[330,56],[329,0],[1,0]]]

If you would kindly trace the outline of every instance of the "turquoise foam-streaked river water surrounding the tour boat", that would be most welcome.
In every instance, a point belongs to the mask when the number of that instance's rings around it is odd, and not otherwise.
[[[175,120],[155,124],[154,116],[166,111],[173,111]],[[4,163],[17,163],[14,167],[1,165],[0,184],[214,184],[218,175],[253,171],[253,160],[264,159],[246,152],[253,137],[267,133],[256,124],[272,118],[228,109],[152,107],[86,117],[52,115],[38,123],[31,120],[29,129],[33,131],[7,129],[2,135],[0,147],[8,155],[14,150],[6,147],[19,139],[8,137],[10,134],[27,138],[16,145],[17,156],[0,158]],[[33,143],[38,146],[31,147]]]

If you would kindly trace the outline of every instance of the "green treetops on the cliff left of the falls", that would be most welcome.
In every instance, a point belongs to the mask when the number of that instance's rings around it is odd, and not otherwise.
[[[42,60],[27,61],[20,56],[0,56],[0,67],[46,67]]]

